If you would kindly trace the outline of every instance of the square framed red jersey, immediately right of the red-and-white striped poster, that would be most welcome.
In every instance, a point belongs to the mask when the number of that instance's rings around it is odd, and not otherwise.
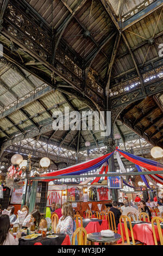
[[[67,202],[83,201],[83,186],[67,186]]]

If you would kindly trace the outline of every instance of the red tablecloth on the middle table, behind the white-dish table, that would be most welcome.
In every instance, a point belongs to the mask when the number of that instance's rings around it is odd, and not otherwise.
[[[79,221],[79,227],[80,227]],[[85,227],[87,234],[100,232],[101,230],[109,229],[108,221],[102,220],[101,225],[98,222],[90,222]]]

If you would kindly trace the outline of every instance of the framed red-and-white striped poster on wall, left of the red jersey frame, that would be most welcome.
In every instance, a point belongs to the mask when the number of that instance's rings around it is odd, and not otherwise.
[[[56,186],[56,185],[48,186],[47,206],[51,206],[53,202],[55,202],[55,204],[62,203],[61,186]]]

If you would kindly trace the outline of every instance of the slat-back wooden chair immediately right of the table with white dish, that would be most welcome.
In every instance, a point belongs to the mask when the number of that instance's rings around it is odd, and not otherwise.
[[[130,233],[131,233],[131,239],[132,241],[130,241],[129,239],[129,233],[128,233],[128,227],[127,227],[127,221],[129,222],[130,225]],[[141,243],[140,241],[136,241],[134,239],[134,234],[133,234],[133,227],[131,225],[131,220],[128,216],[126,215],[121,215],[120,217],[120,229],[121,229],[121,236],[122,236],[122,244],[124,244],[124,234],[123,234],[123,229],[122,229],[122,222],[124,222],[124,230],[125,230],[125,236],[126,236],[126,240],[127,243],[130,245],[143,245],[143,243]]]

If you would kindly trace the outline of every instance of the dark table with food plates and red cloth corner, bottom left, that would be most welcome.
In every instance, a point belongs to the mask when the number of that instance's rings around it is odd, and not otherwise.
[[[53,234],[57,235],[56,238],[48,238],[47,236],[38,236],[34,240],[23,240],[19,239],[18,245],[71,245],[70,237],[64,234]]]

